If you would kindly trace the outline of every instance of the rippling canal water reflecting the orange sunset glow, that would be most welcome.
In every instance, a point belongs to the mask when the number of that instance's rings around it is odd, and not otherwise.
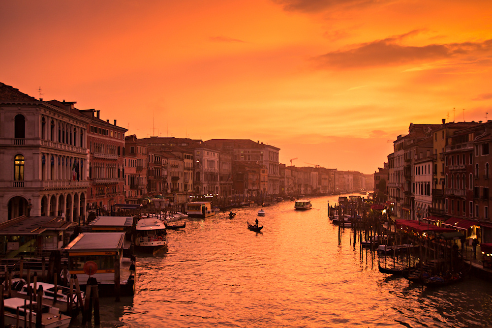
[[[133,298],[101,298],[100,327],[491,327],[491,282],[427,289],[380,273],[350,229],[338,245],[338,196],[311,202],[187,220],[167,253],[137,257]],[[256,218],[262,233],[246,229]]]

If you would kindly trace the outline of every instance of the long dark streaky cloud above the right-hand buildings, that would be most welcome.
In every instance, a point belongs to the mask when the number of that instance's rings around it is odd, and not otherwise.
[[[414,30],[386,39],[362,43],[352,49],[329,52],[313,58],[313,61],[320,68],[351,69],[398,66],[447,59],[474,62],[482,60],[484,56],[492,57],[492,39],[483,42],[429,44],[424,46],[400,44],[408,36],[419,32],[420,30]]]

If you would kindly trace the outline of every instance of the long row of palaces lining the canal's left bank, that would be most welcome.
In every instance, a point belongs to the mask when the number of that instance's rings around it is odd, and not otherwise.
[[[372,175],[286,166],[260,141],[137,138],[76,102],[43,101],[0,83],[0,222],[21,216],[84,220],[91,209],[217,205],[366,188]]]

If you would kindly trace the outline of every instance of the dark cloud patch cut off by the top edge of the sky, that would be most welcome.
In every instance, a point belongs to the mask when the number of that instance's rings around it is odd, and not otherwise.
[[[388,2],[387,0],[273,0],[285,11],[322,12],[333,7],[361,7]]]

